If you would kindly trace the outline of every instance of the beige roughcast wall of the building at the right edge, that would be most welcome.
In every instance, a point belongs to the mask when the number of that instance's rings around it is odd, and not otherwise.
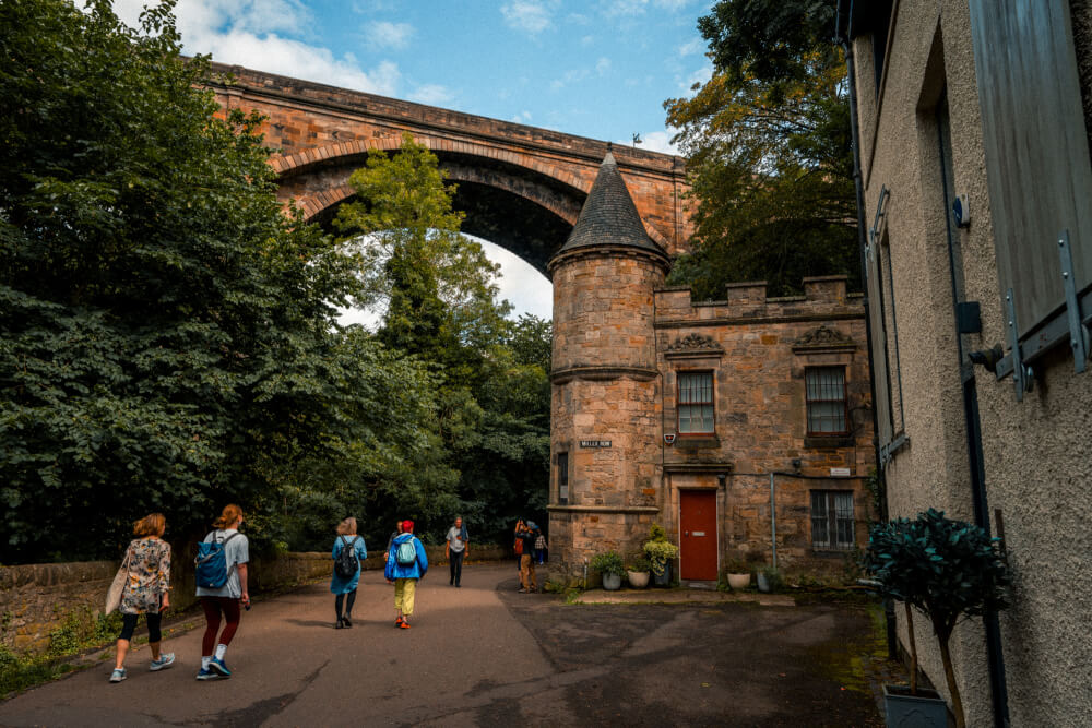
[[[998,9],[1011,7],[996,4]],[[1092,10],[1087,0],[1052,4],[1055,38],[1063,37],[1064,23],[1058,19],[1067,7],[1087,133],[1092,130]],[[963,282],[965,300],[981,302],[982,331],[965,335],[964,351],[998,343],[1010,348],[994,227],[995,211],[1006,213],[1008,205],[1005,199],[990,195],[992,165],[984,141],[973,25],[964,0],[903,0],[895,4],[882,75],[877,76],[873,68],[871,35],[857,38],[854,45],[857,77],[853,82],[862,102],[865,216],[870,223],[877,220],[877,240],[893,270],[883,284],[889,312],[886,354],[891,380],[901,379],[905,395],[903,407],[894,403],[895,420],[910,439],[886,470],[892,517],[913,517],[934,506],[952,517],[974,520],[952,315],[953,279]],[[1029,53],[1025,60],[1032,64],[1045,57]],[[1051,74],[1061,76],[1057,71]],[[935,115],[941,94],[948,104],[951,151],[947,163],[953,190],[966,195],[974,215],[969,227],[953,231],[960,251],[954,270],[945,244],[948,182],[942,177]],[[1061,134],[1061,129],[1060,124],[1047,126],[1042,133]],[[1032,152],[1032,156],[1038,154],[1034,147]],[[1089,159],[1069,163],[1088,165]],[[1058,174],[1068,175],[1069,166],[1057,166]],[[1023,184],[1020,194],[1032,199],[1051,187],[1049,180],[1034,177],[1024,178]],[[883,214],[877,217],[885,188],[889,196]],[[1075,249],[1090,244],[1087,230],[1071,232]],[[892,310],[898,312],[897,332],[890,325]],[[1088,517],[1092,373],[1076,373],[1072,355],[1063,346],[1034,363],[1034,390],[1017,402],[1011,377],[997,381],[984,368],[970,370],[975,377],[989,526],[998,536],[1004,522],[1013,577],[1012,606],[998,618],[1009,720],[1013,726],[1088,725],[1092,695],[1088,680],[1092,655],[1092,561],[1088,557],[1092,547]],[[901,609],[898,618],[905,644]],[[926,620],[914,620],[914,629],[922,669],[947,695],[937,641]],[[956,679],[972,726],[994,725],[985,642],[982,620],[972,619],[957,628],[951,645]]]

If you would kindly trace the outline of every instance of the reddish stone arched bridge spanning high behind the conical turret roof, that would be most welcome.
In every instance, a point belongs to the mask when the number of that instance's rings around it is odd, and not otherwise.
[[[347,184],[368,151],[394,150],[408,131],[432,151],[458,184],[463,230],[515,253],[546,274],[587,198],[607,144],[524,124],[213,64],[210,87],[221,107],[266,117],[266,142],[280,198],[308,219],[328,223],[353,196]],[[229,75],[228,75],[229,74]],[[614,147],[644,228],[668,254],[691,232],[682,159]]]

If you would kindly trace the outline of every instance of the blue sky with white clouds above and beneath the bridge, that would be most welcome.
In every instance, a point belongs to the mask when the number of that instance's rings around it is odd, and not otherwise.
[[[135,24],[147,0],[116,0]],[[187,52],[674,153],[663,102],[705,81],[709,0],[179,0]],[[542,275],[494,246],[501,295],[550,314]],[[522,266],[522,267],[521,267]],[[524,270],[525,268],[525,270]]]

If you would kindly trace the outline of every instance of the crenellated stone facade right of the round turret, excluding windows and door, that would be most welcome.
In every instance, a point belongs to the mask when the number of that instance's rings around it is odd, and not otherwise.
[[[811,491],[852,493],[855,542],[874,517],[864,487],[874,465],[864,306],[844,276],[806,278],[804,296],[767,298],[763,283],[733,284],[723,301],[691,302],[689,290],[656,294],[658,367],[664,378],[663,523],[679,532],[679,491],[717,496],[721,562],[772,560],[770,473],[775,476],[779,566],[839,577],[847,550],[812,548]],[[847,432],[808,433],[809,367],[843,368]],[[715,434],[676,433],[678,374],[713,373]],[[838,468],[845,476],[832,475]]]

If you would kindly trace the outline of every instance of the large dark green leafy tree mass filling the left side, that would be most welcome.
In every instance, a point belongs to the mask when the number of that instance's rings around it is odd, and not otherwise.
[[[260,119],[216,118],[171,7],[131,29],[106,0],[0,4],[3,561],[114,556],[135,517],[185,536],[227,501],[272,538],[295,492],[429,462],[430,375],[337,329],[358,258],[283,214]]]

